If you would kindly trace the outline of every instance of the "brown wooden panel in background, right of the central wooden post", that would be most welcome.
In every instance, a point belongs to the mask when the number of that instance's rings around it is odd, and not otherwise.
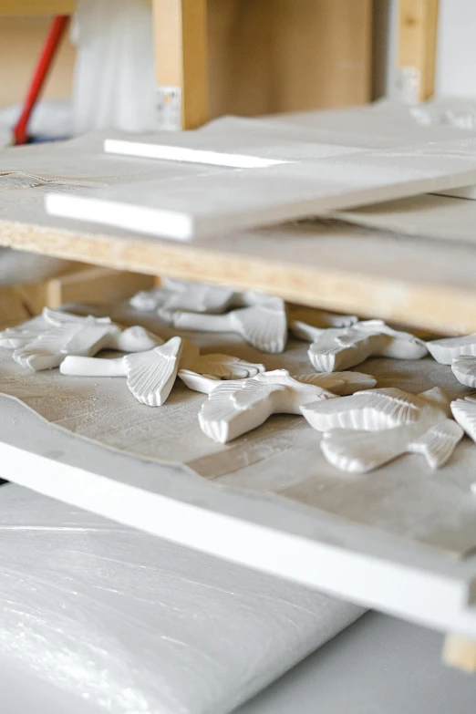
[[[370,99],[371,0],[208,0],[210,113]]]

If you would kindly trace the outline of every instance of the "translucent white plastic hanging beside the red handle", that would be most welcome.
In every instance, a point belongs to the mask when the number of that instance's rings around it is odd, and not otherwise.
[[[157,127],[150,0],[78,0],[74,133]]]

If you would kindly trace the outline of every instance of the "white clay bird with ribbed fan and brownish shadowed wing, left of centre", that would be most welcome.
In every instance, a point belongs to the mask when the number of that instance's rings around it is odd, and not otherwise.
[[[208,378],[223,379],[264,371],[264,365],[243,362],[238,357],[201,355],[199,348],[183,337],[172,337],[160,347],[115,359],[67,357],[60,371],[69,377],[126,377],[130,392],[141,404],[160,407],[171,393],[179,367],[190,373],[192,380],[201,372]],[[183,381],[187,384],[186,379]]]

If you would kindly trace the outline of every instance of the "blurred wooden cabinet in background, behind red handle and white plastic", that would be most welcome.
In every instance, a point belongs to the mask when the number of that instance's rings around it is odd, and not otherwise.
[[[74,5],[0,0],[0,107],[26,91],[49,22],[34,15],[48,8],[70,12]],[[372,0],[152,0],[152,6],[158,83],[182,88],[187,128],[222,114],[338,107],[370,98]],[[67,96],[73,64],[74,50],[65,42],[48,97]]]

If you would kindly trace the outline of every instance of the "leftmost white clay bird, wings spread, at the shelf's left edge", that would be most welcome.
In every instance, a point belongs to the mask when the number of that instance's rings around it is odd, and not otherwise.
[[[139,352],[160,345],[144,327],[122,329],[109,317],[77,316],[44,308],[41,316],[0,332],[0,347],[13,349],[22,367],[58,367],[67,355],[95,355],[101,349]]]

